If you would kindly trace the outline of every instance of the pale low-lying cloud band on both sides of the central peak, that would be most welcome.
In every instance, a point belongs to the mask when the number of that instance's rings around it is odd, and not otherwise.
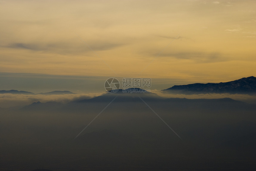
[[[246,94],[229,94],[229,93],[212,93],[212,94],[194,94],[194,95],[185,95],[185,94],[168,94],[166,92],[152,90],[151,92],[156,93],[157,95],[163,98],[188,98],[188,99],[215,99],[215,98],[232,98],[234,100],[243,101],[246,103],[255,103],[256,104],[256,95],[246,95]],[[49,101],[55,101],[59,103],[68,103],[70,101],[84,100],[94,98],[99,95],[103,95],[106,92],[102,93],[88,93],[88,94],[63,94],[63,95],[24,95],[24,94],[0,94],[0,108],[8,108],[15,106],[26,106],[34,102],[46,103]]]

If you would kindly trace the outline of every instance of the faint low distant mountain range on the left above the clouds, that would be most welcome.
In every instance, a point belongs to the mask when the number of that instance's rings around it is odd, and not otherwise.
[[[36,95],[36,94],[42,94],[42,95],[62,95],[62,94],[76,94],[70,91],[52,91],[52,92],[41,92],[41,93],[33,93],[33,92],[27,92],[27,91],[18,91],[18,90],[0,90],[0,94],[26,94],[26,95]]]

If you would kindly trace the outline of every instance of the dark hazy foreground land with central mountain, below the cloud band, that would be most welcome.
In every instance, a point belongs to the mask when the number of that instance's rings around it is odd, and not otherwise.
[[[255,111],[230,98],[152,93],[0,109],[0,169],[255,170]]]

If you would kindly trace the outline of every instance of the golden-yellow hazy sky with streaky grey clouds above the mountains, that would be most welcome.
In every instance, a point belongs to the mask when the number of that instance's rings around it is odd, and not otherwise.
[[[0,89],[102,92],[255,76],[256,1],[1,1]]]

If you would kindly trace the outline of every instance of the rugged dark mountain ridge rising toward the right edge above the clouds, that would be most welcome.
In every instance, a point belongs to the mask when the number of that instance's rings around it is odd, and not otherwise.
[[[256,77],[238,79],[220,83],[195,83],[188,85],[175,85],[165,90],[168,93],[200,94],[200,93],[230,93],[230,94],[256,94]]]

